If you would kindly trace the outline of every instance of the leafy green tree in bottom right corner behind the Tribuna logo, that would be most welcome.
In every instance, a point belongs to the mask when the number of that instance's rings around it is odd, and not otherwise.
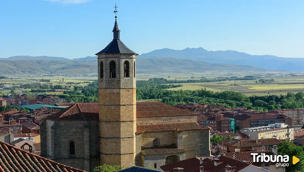
[[[296,156],[299,159],[304,159],[304,146],[296,146],[292,142],[284,141],[278,145],[278,154],[289,156],[289,166],[286,167],[286,172],[304,171],[304,161],[300,161],[294,165],[292,164],[293,156]]]

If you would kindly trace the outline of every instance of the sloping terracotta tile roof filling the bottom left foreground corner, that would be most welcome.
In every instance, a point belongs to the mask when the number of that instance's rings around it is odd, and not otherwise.
[[[0,141],[0,171],[1,172],[33,172],[62,171],[85,172],[84,170],[59,164],[55,161],[18,149]]]

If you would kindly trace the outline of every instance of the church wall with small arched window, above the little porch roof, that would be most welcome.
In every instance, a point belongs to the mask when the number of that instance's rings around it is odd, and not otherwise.
[[[160,145],[170,145],[174,144],[175,133],[174,131],[142,133],[141,145],[143,147],[151,147],[155,138],[160,139]]]

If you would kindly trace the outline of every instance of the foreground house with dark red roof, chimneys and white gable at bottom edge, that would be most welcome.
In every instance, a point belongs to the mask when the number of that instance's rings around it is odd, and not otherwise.
[[[270,172],[227,156],[220,156],[214,159],[191,158],[163,165],[160,168],[165,172]]]

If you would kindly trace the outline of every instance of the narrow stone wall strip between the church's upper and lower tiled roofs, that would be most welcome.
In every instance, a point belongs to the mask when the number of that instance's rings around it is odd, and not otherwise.
[[[165,116],[165,117],[149,117],[137,118],[137,125],[140,124],[161,124],[161,123],[180,123],[180,122],[197,122],[197,116]]]

